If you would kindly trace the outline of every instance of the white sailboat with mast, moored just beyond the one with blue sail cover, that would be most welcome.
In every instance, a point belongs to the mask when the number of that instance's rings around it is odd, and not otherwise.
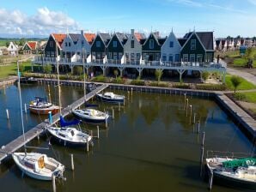
[[[84,71],[84,59],[83,61],[83,91],[84,91],[84,102],[86,103],[86,78],[85,78],[85,71]],[[87,105],[86,106],[96,106],[96,105]],[[86,123],[106,123],[109,115],[106,112],[94,110],[92,108],[85,108],[82,110],[73,110],[72,113],[74,116],[78,119],[81,119],[82,121]]]

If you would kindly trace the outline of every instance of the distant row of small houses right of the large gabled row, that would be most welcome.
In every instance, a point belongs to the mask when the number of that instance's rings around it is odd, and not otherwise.
[[[214,48],[216,51],[235,51],[241,46],[256,47],[256,39],[227,38],[215,39],[214,41]]]

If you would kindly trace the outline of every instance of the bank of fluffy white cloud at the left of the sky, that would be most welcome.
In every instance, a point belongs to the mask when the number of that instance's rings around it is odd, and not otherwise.
[[[77,22],[61,11],[46,7],[37,10],[35,15],[26,15],[20,10],[0,9],[0,33],[22,35],[48,35],[78,29]]]

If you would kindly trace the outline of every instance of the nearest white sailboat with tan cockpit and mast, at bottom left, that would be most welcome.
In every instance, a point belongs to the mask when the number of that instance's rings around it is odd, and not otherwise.
[[[18,67],[18,89],[20,96],[20,105],[21,101],[21,83],[20,83],[20,71],[19,63],[17,62]],[[22,115],[22,105],[21,105],[21,126],[24,143],[25,133],[24,133],[24,123]],[[13,153],[12,158],[15,161],[15,164],[20,168],[20,170],[25,173],[28,177],[32,177],[39,180],[51,181],[52,175],[57,177],[63,177],[64,174],[64,165],[58,162],[56,159],[52,159],[43,153],[27,153],[26,145],[24,145],[24,153]]]

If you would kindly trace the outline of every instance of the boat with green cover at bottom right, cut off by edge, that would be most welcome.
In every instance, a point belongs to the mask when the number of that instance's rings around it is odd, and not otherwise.
[[[256,189],[255,158],[221,158],[206,159],[206,166],[213,177],[224,185],[241,189]]]

